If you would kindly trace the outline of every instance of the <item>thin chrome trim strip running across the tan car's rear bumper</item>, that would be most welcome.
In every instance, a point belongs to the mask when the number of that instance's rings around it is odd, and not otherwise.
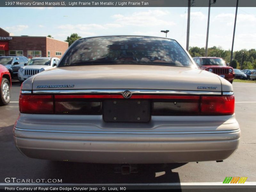
[[[239,132],[239,129],[229,131],[187,131],[187,132],[125,132],[125,131],[66,131],[66,130],[42,130],[42,129],[21,129],[15,127],[17,131],[29,131],[29,132],[54,132],[54,133],[86,133],[86,134],[214,134],[214,133],[234,133]]]

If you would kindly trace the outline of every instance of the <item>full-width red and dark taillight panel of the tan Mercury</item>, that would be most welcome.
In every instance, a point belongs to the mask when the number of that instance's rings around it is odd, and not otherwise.
[[[124,99],[121,94],[36,95],[20,94],[20,112],[30,114],[102,115],[102,102]],[[132,95],[132,99],[150,100],[152,115],[232,115],[235,98],[224,96]]]

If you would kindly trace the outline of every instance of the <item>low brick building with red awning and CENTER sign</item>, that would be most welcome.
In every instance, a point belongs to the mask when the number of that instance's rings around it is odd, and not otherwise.
[[[68,42],[42,36],[10,36],[0,28],[0,55],[58,57],[68,49]]]

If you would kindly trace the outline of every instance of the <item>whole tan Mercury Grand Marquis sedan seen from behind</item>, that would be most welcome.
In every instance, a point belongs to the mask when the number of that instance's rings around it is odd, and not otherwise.
[[[198,69],[175,40],[99,36],[23,83],[16,146],[90,163],[218,161],[237,149],[232,85]]]

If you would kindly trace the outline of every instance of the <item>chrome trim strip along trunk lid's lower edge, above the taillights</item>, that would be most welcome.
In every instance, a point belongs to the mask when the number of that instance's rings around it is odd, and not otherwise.
[[[35,94],[122,94],[129,90],[132,94],[186,94],[186,95],[221,95],[221,92],[211,91],[177,91],[177,90],[153,90],[153,89],[80,89],[80,90],[36,90]]]

